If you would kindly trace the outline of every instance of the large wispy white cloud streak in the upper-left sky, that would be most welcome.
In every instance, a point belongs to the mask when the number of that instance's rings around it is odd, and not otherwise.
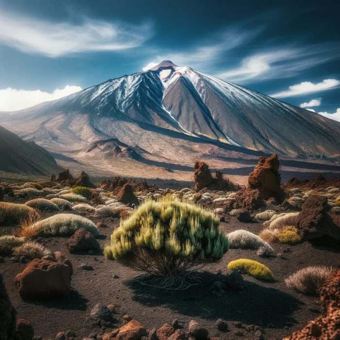
[[[82,17],[80,23],[51,22],[0,12],[1,43],[48,57],[125,50],[140,46],[151,34],[147,23],[137,26],[88,17]]]

